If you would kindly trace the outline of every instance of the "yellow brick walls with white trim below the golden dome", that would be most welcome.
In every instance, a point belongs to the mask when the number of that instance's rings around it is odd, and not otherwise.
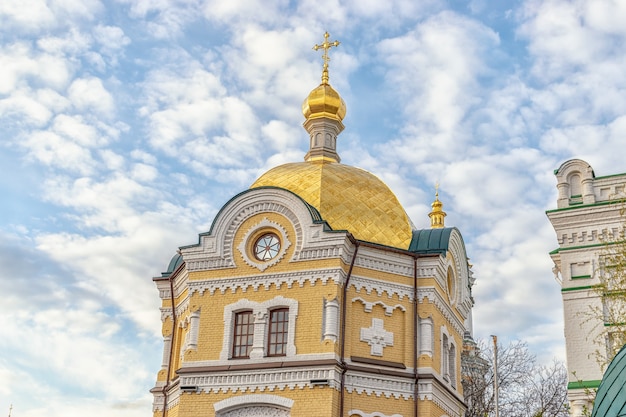
[[[267,231],[288,246],[269,266],[252,253]],[[445,246],[424,254],[356,241],[280,189],[231,200],[154,279],[164,336],[154,416],[462,416],[470,271],[456,229]],[[289,310],[293,346],[272,357],[276,307]],[[254,358],[231,355],[240,310],[255,315]]]

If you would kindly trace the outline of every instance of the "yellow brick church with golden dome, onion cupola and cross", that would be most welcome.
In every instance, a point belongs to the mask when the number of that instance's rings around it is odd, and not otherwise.
[[[472,272],[438,196],[418,230],[376,176],[340,163],[346,104],[304,100],[303,162],[261,175],[153,280],[155,417],[461,417]]]

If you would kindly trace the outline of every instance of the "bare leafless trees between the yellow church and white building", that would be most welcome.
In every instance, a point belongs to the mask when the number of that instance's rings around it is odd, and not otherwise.
[[[463,390],[466,417],[495,415],[493,351],[479,342],[474,352],[483,366],[467,366],[464,357]],[[474,359],[474,364],[478,361]],[[482,373],[482,375],[481,375]],[[499,414],[506,417],[568,417],[567,371],[558,361],[538,365],[524,342],[498,345]]]

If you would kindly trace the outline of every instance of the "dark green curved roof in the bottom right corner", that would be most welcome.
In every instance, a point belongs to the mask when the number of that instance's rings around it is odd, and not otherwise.
[[[615,355],[604,373],[591,417],[626,416],[626,346]]]

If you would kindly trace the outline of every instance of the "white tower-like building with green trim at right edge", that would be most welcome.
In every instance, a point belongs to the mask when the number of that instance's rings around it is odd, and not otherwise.
[[[559,246],[550,257],[563,297],[567,396],[572,416],[582,417],[589,415],[593,392],[602,379],[598,353],[610,359],[608,351],[619,347],[611,346],[611,333],[605,332],[610,320],[594,313],[607,308],[595,287],[604,269],[607,244],[619,238],[624,224],[626,174],[596,177],[591,165],[580,159],[564,162],[554,174],[557,208],[547,215]],[[597,343],[602,333],[607,336],[606,346]]]

